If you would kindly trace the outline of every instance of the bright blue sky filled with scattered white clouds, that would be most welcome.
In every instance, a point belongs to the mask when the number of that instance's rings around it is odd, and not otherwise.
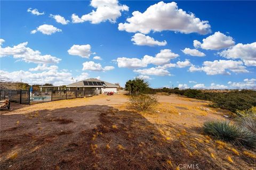
[[[255,1],[1,1],[2,76],[256,89]]]

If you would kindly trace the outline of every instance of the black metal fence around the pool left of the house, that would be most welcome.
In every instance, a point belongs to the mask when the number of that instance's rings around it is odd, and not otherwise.
[[[48,101],[74,99],[100,94],[98,89],[90,90],[0,90],[1,100],[10,99],[20,104],[38,104]]]

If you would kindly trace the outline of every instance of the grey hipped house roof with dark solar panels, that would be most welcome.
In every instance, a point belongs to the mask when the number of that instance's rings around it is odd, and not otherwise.
[[[118,87],[116,84],[112,84],[99,79],[86,79],[75,83],[68,84],[67,87]]]

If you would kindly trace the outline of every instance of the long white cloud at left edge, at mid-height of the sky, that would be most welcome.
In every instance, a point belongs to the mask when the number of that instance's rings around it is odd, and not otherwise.
[[[4,41],[3,41],[4,42]],[[13,47],[0,47],[0,56],[13,56],[13,58],[18,58],[28,63],[36,64],[56,64],[61,61],[60,58],[47,55],[41,55],[41,52],[38,50],[33,50],[29,47],[26,47],[28,42],[21,43]]]

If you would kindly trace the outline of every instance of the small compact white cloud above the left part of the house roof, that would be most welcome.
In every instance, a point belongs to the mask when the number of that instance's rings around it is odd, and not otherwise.
[[[92,54],[91,52],[91,45],[86,44],[86,45],[73,45],[70,47],[68,50],[68,54],[70,55],[78,55],[83,58],[89,58]]]

